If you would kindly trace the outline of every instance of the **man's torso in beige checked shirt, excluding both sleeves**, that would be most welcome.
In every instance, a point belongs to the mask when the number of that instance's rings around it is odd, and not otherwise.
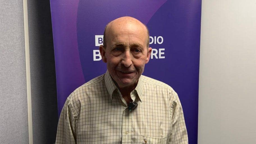
[[[173,89],[141,76],[140,96],[132,92],[138,106],[129,111],[118,89],[111,99],[105,75],[80,86],[68,98],[72,113],[77,115],[77,143],[144,143],[144,139],[147,144],[166,143],[179,101]]]

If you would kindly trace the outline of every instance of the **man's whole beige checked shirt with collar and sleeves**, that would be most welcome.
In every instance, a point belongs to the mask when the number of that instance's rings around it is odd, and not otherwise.
[[[177,93],[141,76],[129,111],[109,72],[72,92],[61,111],[56,144],[188,144]]]

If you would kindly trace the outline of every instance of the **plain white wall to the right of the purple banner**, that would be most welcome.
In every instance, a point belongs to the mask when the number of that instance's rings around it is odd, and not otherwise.
[[[256,0],[203,0],[198,144],[256,144]]]

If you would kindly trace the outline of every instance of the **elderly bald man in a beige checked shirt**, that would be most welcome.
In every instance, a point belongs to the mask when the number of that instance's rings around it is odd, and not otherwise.
[[[115,19],[99,49],[107,71],[69,95],[56,144],[187,144],[177,93],[141,75],[152,51],[147,27],[132,17]]]

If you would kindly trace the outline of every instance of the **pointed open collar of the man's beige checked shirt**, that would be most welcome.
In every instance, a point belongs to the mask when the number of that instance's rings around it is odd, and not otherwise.
[[[140,100],[142,100],[143,93],[144,93],[143,79],[141,77],[139,78],[138,84],[137,84],[136,88],[134,89],[137,92]],[[106,84],[110,99],[112,100],[112,94],[117,89],[117,86],[113,82],[108,70],[105,73],[104,80],[105,80],[105,84]]]

